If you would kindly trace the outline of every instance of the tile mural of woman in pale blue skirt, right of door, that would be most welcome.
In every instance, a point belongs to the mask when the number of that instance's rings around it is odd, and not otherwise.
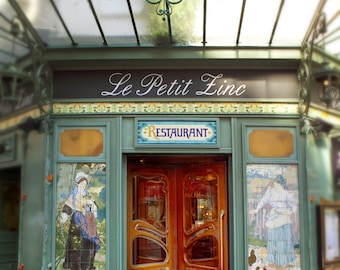
[[[247,165],[249,269],[300,270],[297,165]]]

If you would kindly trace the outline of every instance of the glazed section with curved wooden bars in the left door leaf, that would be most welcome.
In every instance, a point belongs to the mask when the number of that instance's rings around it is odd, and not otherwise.
[[[133,177],[133,220],[138,234],[133,240],[133,264],[164,262],[167,258],[166,182],[161,176]]]

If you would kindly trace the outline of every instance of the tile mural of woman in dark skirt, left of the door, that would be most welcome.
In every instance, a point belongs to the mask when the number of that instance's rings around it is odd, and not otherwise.
[[[55,269],[106,269],[106,164],[60,163]]]

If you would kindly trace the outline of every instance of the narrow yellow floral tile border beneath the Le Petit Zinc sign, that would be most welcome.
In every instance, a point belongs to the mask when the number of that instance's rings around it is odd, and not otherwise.
[[[290,103],[225,103],[225,102],[117,102],[55,103],[54,114],[78,113],[159,113],[159,114],[297,114],[298,105]]]

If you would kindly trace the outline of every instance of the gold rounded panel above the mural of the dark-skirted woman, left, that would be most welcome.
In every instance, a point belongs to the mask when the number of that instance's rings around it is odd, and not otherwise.
[[[104,136],[96,129],[67,129],[60,134],[60,152],[64,156],[99,156]]]

